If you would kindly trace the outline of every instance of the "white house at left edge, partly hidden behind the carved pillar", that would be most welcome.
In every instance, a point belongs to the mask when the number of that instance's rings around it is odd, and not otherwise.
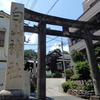
[[[10,15],[0,11],[0,91],[4,89]]]

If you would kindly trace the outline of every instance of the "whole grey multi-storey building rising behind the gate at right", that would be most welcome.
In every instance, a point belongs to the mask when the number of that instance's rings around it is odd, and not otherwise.
[[[100,21],[100,0],[84,0],[83,1],[83,10],[84,13],[77,19],[79,21],[86,22],[99,22]],[[77,29],[70,28],[70,32],[78,32]],[[91,34],[100,35],[100,30],[90,31]],[[69,51],[73,49],[81,51],[86,56],[85,42],[83,39],[68,38],[69,42]],[[93,41],[94,48],[100,46],[99,41]],[[87,56],[86,56],[87,58]],[[71,66],[74,65],[74,62],[71,61]]]

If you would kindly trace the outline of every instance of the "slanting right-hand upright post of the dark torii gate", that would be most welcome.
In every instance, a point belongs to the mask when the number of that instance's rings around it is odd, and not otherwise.
[[[90,70],[92,74],[92,80],[95,89],[95,95],[100,96],[100,73],[99,73],[89,29],[85,29],[85,44],[86,44],[86,52],[88,56]]]

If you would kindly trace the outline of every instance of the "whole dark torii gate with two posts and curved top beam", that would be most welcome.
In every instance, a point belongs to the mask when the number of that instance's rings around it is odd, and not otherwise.
[[[45,56],[46,56],[46,35],[80,38],[85,40],[86,52],[92,74],[95,95],[100,96],[100,73],[96,62],[92,40],[100,40],[100,36],[90,34],[90,30],[99,30],[100,23],[83,22],[69,20],[24,9],[24,19],[38,22],[38,27],[24,26],[25,32],[38,33],[38,76],[37,76],[37,98],[46,100],[46,75],[45,75]],[[46,24],[59,25],[63,31],[46,29]],[[69,32],[69,27],[81,30],[80,33]],[[95,97],[91,97],[92,100]]]

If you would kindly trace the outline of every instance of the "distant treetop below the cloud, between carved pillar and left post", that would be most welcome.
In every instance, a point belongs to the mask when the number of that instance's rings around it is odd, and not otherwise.
[[[37,53],[32,50],[24,50],[24,61],[27,61],[28,59],[32,59],[34,56],[37,56]]]

